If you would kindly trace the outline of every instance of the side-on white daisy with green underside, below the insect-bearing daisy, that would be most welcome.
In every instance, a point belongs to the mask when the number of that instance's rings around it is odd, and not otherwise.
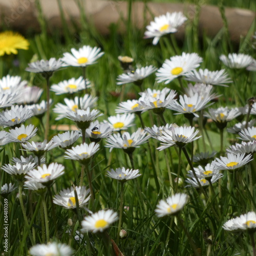
[[[92,142],[89,145],[86,143],[72,147],[66,151],[66,159],[78,160],[81,164],[87,164],[90,157],[99,150],[99,144]]]

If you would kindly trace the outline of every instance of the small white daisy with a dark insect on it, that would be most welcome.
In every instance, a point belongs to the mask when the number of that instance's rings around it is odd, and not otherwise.
[[[109,123],[99,123],[98,120],[91,122],[86,130],[86,137],[93,142],[97,142],[102,138],[108,138],[113,133],[113,128]]]

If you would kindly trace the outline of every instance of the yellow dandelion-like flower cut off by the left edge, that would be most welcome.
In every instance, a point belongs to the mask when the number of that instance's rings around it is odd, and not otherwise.
[[[29,41],[22,35],[12,31],[0,33],[0,56],[5,54],[17,54],[18,49],[28,50]]]

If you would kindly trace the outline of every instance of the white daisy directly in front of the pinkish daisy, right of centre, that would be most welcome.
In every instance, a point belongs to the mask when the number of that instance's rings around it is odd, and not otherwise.
[[[196,112],[205,109],[209,105],[213,104],[209,103],[210,100],[211,99],[209,97],[204,97],[204,99],[202,99],[202,97],[199,96],[198,93],[191,97],[187,97],[187,95],[180,95],[180,103],[177,102],[177,100],[174,100],[167,106],[167,109],[179,112],[175,113],[176,115],[193,114],[194,116],[199,117],[199,115]]]

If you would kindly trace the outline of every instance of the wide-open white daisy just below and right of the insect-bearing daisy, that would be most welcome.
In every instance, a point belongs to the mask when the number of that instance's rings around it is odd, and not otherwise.
[[[110,152],[113,148],[123,148],[123,150],[135,150],[135,147],[139,147],[141,144],[145,143],[150,136],[146,135],[146,132],[139,128],[132,135],[130,133],[124,132],[122,135],[120,133],[111,135],[106,139],[105,147],[110,147]]]

